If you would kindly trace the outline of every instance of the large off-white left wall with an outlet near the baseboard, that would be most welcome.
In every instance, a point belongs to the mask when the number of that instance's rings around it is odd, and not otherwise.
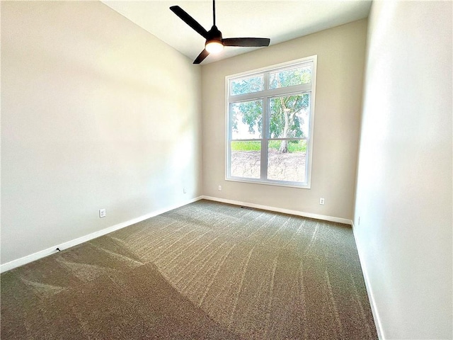
[[[199,196],[199,86],[100,2],[1,1],[1,263]]]

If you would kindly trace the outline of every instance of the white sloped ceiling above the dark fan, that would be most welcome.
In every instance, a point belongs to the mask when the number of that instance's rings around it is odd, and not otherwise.
[[[210,0],[102,2],[192,60],[195,60],[205,47],[205,38],[178,18],[169,7],[180,6],[206,30],[210,30],[212,26]],[[224,38],[270,38],[270,45],[275,45],[366,18],[371,0],[218,0],[215,5],[216,26],[222,31]],[[240,55],[256,48],[225,47],[222,53],[208,56],[202,64]]]

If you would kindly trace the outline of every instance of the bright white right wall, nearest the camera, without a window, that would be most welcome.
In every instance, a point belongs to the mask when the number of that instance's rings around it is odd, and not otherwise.
[[[354,223],[382,334],[452,339],[452,2],[374,1],[365,77]]]

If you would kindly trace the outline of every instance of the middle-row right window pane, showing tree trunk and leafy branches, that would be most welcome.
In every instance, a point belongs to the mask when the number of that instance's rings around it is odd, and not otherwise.
[[[270,138],[309,137],[310,94],[270,98]]]

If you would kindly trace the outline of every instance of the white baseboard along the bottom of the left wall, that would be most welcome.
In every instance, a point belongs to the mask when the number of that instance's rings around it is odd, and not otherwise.
[[[142,222],[142,221],[147,220],[147,219],[149,219],[151,217],[154,217],[154,216],[157,216],[157,215],[161,215],[164,212],[167,212],[167,211],[170,211],[170,210],[173,210],[173,209],[176,209],[176,208],[180,208],[183,205],[187,205],[189,203],[193,203],[193,202],[195,202],[197,200],[201,200],[201,199],[202,199],[202,196],[199,196],[199,197],[193,198],[191,200],[187,200],[184,203],[180,203],[178,205],[172,205],[171,207],[168,207],[168,208],[156,210],[156,211],[150,212],[147,215],[143,215],[143,216],[134,218],[132,220],[121,222],[121,223],[118,223],[117,225],[113,225],[111,227],[108,227],[108,228],[105,228],[105,229],[102,229],[102,230],[98,230],[97,232],[92,232],[91,234],[88,234],[88,235],[85,235],[85,236],[82,236],[82,237],[78,237],[76,239],[72,239],[71,241],[64,242],[62,244],[57,244],[55,246],[51,246],[50,248],[47,248],[47,249],[44,249],[44,250],[41,250],[41,251],[37,251],[34,254],[23,256],[20,259],[16,259],[16,260],[13,260],[13,261],[10,261],[10,262],[6,262],[6,263],[0,265],[0,273],[3,273],[4,271],[10,271],[13,268],[17,268],[19,266],[23,266],[24,264],[36,261],[38,259],[42,259],[45,256],[49,256],[49,255],[55,254],[55,253],[58,252],[56,250],[57,248],[59,248],[60,250],[71,248],[71,246],[76,246],[78,244],[90,241],[91,239],[96,239],[96,237],[101,237],[101,236],[103,236],[105,234],[109,234],[110,232],[115,232],[118,229],[122,229],[124,227],[129,227],[130,225],[134,225],[135,223]]]

